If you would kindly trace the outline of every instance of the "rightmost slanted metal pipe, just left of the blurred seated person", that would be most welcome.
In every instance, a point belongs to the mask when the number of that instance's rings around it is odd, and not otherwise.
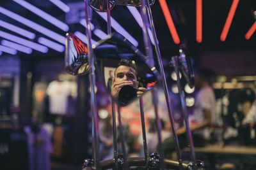
[[[190,146],[190,154],[191,154],[193,169],[195,169],[195,160],[196,160],[195,148],[194,148],[194,143],[193,143],[191,130],[189,128],[188,112],[187,112],[187,109],[186,109],[187,106],[186,106],[184,90],[182,90],[181,86],[180,86],[179,63],[178,63],[178,57],[177,56],[172,57],[172,63],[174,65],[175,72],[176,72],[176,75],[177,75],[177,84],[178,84],[179,95],[180,95],[180,103],[181,103],[181,106],[182,106],[182,113],[184,115],[186,135],[187,135],[189,146]]]

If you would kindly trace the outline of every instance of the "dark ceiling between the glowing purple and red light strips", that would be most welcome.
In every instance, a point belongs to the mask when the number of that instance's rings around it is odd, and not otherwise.
[[[71,0],[62,1],[66,4],[83,2]],[[59,20],[66,22],[66,13],[60,10],[50,1],[31,0],[28,2],[40,8],[41,10],[44,10],[50,15],[58,18]],[[239,1],[233,22],[227,35],[227,39],[224,42],[220,41],[220,34],[225,24],[228,11],[230,10],[232,0],[204,0],[202,43],[196,42],[196,1],[167,0],[166,3],[168,4],[168,8],[171,11],[173,22],[179,34],[180,41],[187,43],[189,50],[192,53],[198,53],[202,51],[255,51],[256,33],[253,34],[252,38],[250,38],[249,40],[246,40],[244,38],[246,32],[255,22],[256,15],[253,14],[253,11],[256,10],[255,0]],[[22,15],[23,17],[26,17],[33,22],[43,25],[44,27],[47,27],[54,32],[58,32],[58,34],[65,36],[66,32],[50,24],[43,18],[38,17],[31,11],[26,10],[26,8],[20,6],[14,1],[1,0],[0,6],[19,15]],[[164,19],[164,15],[159,5],[159,2],[156,1],[156,3],[152,5],[151,9],[152,15],[154,17],[154,23],[156,26],[157,38],[159,40],[161,53],[163,53],[163,57],[170,57],[177,52],[178,45],[175,45],[175,43],[173,43],[172,36],[170,34],[170,31],[168,30],[168,26]],[[113,10],[111,10],[111,16],[115,18],[115,20],[120,25],[122,25],[122,27],[124,27],[127,32],[129,32],[135,39],[137,39],[140,44],[140,49],[143,49],[143,35],[141,28],[137,24],[136,20],[134,20],[126,6],[115,5]],[[12,18],[3,15],[2,13],[0,13],[0,19],[13,25],[22,27],[23,29],[28,29],[28,31],[34,32],[36,34],[36,38],[32,41],[37,42],[38,37],[45,37],[40,32],[37,32],[27,27],[26,25],[20,24],[16,20],[13,20]],[[99,15],[95,11],[93,11],[92,23],[95,25],[95,27],[107,33],[106,22],[101,17],[99,17]],[[70,28],[68,32],[85,32],[85,28],[79,23],[68,24],[68,26]],[[3,27],[0,27],[0,30],[20,36],[15,32],[4,29]],[[0,37],[0,40],[1,39],[3,38]],[[99,40],[99,38],[97,38],[95,35],[93,35],[93,39],[95,39],[96,41]],[[32,54],[42,57],[64,56],[64,52],[60,53],[51,49],[49,49],[49,52],[47,53],[36,52],[35,50],[33,50]]]

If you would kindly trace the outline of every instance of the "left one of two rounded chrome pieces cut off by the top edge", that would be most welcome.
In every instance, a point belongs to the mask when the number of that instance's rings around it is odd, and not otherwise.
[[[89,0],[89,6],[99,12],[108,11],[108,1],[107,0]],[[109,1],[109,10],[115,6],[113,1]]]

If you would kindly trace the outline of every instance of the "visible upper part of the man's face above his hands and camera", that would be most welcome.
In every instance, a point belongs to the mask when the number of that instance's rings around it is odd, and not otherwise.
[[[115,71],[115,81],[132,81],[133,88],[137,88],[139,82],[136,78],[136,72],[132,67],[119,66]]]

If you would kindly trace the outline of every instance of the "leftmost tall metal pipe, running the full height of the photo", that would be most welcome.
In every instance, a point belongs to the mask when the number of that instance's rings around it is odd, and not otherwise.
[[[89,78],[90,78],[90,90],[91,90],[91,114],[92,114],[92,138],[93,138],[93,169],[100,169],[99,164],[99,122],[97,117],[97,106],[95,101],[95,66],[94,58],[92,53],[92,32],[90,27],[90,14],[89,14],[88,1],[85,1],[85,18],[86,18],[86,36],[88,39],[87,49],[88,49],[88,62],[90,66]]]

